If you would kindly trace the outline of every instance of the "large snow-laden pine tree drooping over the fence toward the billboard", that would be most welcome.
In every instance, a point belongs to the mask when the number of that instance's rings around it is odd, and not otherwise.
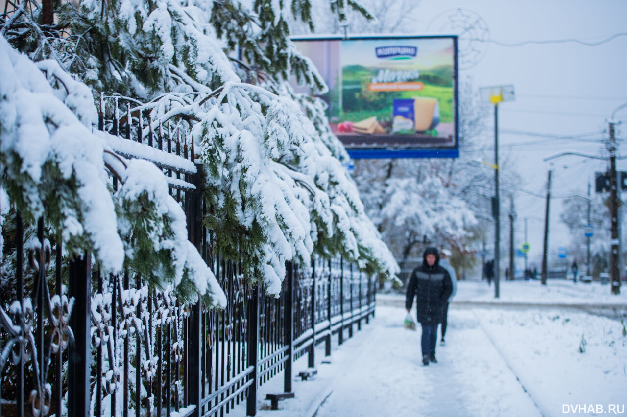
[[[9,40],[25,51],[56,46],[49,55],[63,68],[94,90],[141,101],[134,111],[153,125],[186,123],[208,172],[205,221],[218,249],[241,257],[246,276],[277,294],[285,261],[307,267],[314,253],[342,254],[388,276],[397,268],[340,163],[347,155],[321,103],[287,84],[293,75],[325,88],[289,40],[287,22],[310,23],[310,8],[304,0],[251,9],[237,1],[83,0],[56,12],[58,31],[70,36]],[[367,16],[353,1],[329,2],[340,19],[346,8]]]

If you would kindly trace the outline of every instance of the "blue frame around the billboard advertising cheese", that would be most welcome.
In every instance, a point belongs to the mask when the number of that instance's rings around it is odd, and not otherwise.
[[[455,34],[445,35],[419,35],[419,34],[364,34],[364,35],[312,35],[312,36],[291,36],[290,41],[352,41],[352,40],[394,40],[394,39],[451,39],[453,41],[453,140],[452,147],[421,147],[403,148],[394,147],[371,147],[371,148],[346,148],[346,152],[352,159],[374,159],[374,158],[458,158],[460,156],[460,135],[459,135],[459,63],[458,63],[458,36]],[[341,68],[340,68],[341,71]],[[337,136],[337,135],[336,135]],[[340,138],[338,138],[341,141]]]

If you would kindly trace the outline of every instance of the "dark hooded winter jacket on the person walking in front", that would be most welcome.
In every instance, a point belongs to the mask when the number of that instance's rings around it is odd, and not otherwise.
[[[427,255],[436,256],[433,266],[427,264]],[[442,321],[443,307],[453,292],[453,282],[448,271],[440,266],[440,255],[434,247],[424,250],[423,264],[413,270],[407,284],[405,308],[411,309],[416,297],[418,321],[437,324]]]

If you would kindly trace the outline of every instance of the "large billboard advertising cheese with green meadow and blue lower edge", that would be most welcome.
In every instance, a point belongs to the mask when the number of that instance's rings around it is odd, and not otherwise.
[[[320,97],[352,158],[459,156],[456,36],[292,41],[329,86]]]

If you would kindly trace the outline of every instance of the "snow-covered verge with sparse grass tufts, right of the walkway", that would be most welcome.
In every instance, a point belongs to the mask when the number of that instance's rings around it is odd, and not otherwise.
[[[624,324],[584,312],[473,311],[546,416],[564,404],[627,404]]]

